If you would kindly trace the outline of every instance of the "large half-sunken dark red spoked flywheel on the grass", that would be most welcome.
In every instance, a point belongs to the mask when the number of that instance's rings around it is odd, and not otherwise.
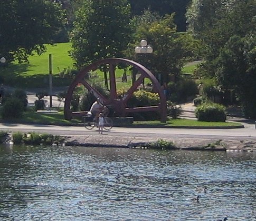
[[[116,86],[116,76],[115,69],[118,64],[126,64],[132,66],[132,68],[136,68],[140,73],[138,79],[134,81],[131,87],[128,89],[126,94],[119,99],[117,97],[117,86]],[[107,65],[109,67],[109,84],[110,84],[110,97],[107,98],[101,95],[95,88],[93,88],[85,79],[88,73],[91,71],[96,71],[99,66]],[[143,107],[127,107],[127,101],[132,96],[138,86],[144,82],[144,78],[149,78],[154,86],[155,92],[159,94],[160,102],[157,106],[143,106]],[[111,106],[117,116],[128,116],[129,113],[134,112],[148,112],[154,111],[160,114],[161,122],[166,122],[167,118],[167,106],[166,106],[166,97],[163,93],[163,90],[157,81],[156,77],[143,65],[130,61],[124,58],[107,58],[101,61],[97,61],[92,63],[91,65],[83,68],[79,74],[75,77],[74,81],[71,83],[68,89],[67,96],[65,98],[64,104],[64,117],[65,119],[71,119],[74,116],[84,116],[87,112],[72,112],[70,109],[72,94],[75,87],[78,84],[82,84],[84,87],[88,89],[90,93],[92,93],[96,98],[99,98],[101,103],[104,105]]]

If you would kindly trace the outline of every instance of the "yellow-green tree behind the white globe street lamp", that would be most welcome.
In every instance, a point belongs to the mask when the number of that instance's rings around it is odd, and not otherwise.
[[[154,22],[149,19],[140,19],[134,35],[137,42],[134,40],[133,45],[134,51],[134,46],[139,45],[138,41],[146,39],[154,49],[153,54],[137,54],[134,59],[148,67],[156,77],[160,76],[162,83],[168,83],[172,75],[175,79],[178,78],[184,62],[192,56],[190,45],[194,39],[189,34],[176,32],[174,14],[167,14],[163,18],[156,16],[155,19]]]

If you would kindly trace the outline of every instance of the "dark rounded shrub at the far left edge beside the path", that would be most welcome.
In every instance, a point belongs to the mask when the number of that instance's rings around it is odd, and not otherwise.
[[[16,98],[16,97],[11,97],[8,98],[1,110],[1,115],[3,119],[8,119],[8,118],[19,118],[23,114],[23,104],[22,102]]]

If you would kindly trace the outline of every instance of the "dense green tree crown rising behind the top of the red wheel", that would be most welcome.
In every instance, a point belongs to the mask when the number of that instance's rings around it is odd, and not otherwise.
[[[75,15],[70,34],[71,56],[81,67],[108,57],[120,57],[130,36],[130,5],[126,0],[87,0]]]

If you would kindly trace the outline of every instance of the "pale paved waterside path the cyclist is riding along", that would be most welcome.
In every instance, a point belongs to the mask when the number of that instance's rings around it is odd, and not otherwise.
[[[87,130],[83,126],[55,126],[0,123],[0,130],[21,130],[51,133],[56,135],[95,135],[96,130]],[[184,128],[138,128],[114,127],[108,136],[138,136],[138,137],[192,137],[192,138],[219,138],[219,139],[256,139],[254,125],[246,124],[245,128],[237,129],[184,129]]]

